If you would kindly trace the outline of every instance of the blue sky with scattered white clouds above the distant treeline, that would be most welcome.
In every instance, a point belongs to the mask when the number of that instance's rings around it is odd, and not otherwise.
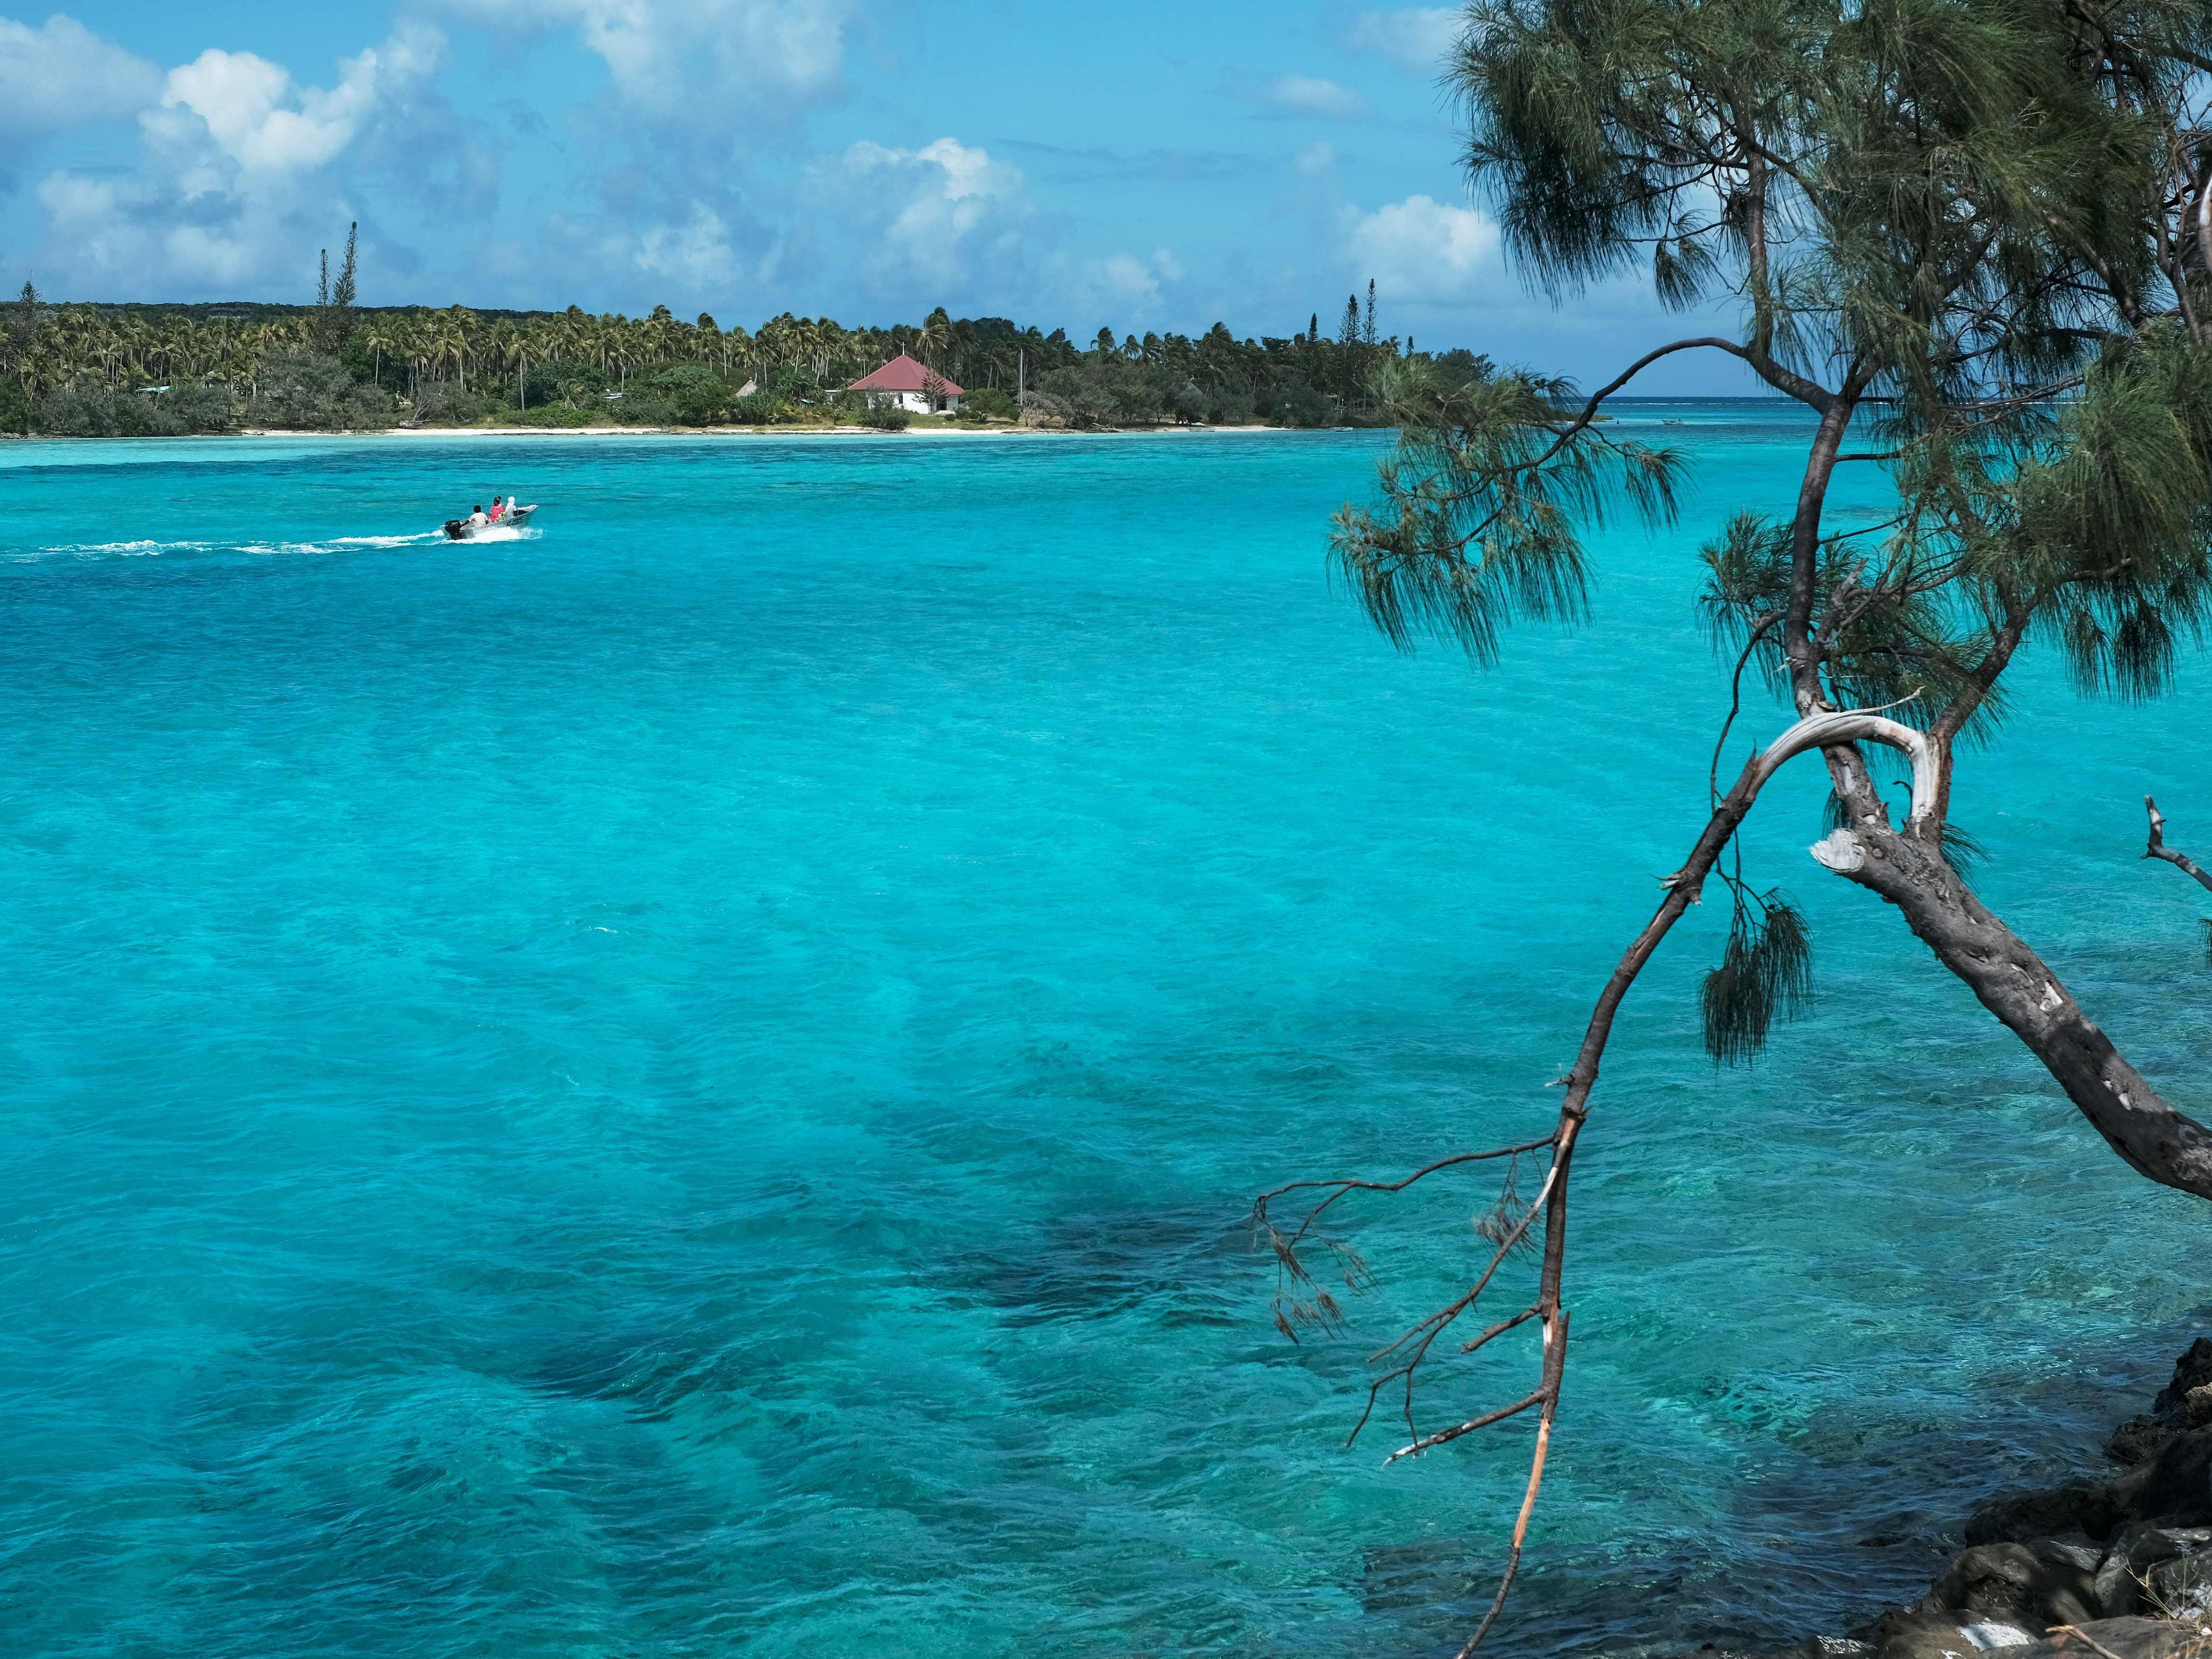
[[[1555,307],[1506,268],[1451,31],[1305,0],[0,0],[0,276],[312,299],[358,219],[365,303],[1290,334],[1371,276],[1389,334],[1586,378],[1681,332],[1639,283]]]

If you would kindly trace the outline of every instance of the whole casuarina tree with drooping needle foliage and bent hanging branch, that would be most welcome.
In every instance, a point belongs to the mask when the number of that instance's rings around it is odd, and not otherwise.
[[[1281,1267],[1276,1321],[1296,1334],[1340,1316],[1323,1245],[1352,1281],[1365,1272],[1325,1234],[1340,1199],[1491,1159],[1544,1166],[1528,1201],[1509,1177],[1484,1223],[1489,1265],[1383,1352],[1367,1402],[1369,1416],[1402,1402],[1398,1455],[1537,1420],[1469,1652],[1504,1606],[1544,1480],[1568,1360],[1568,1181],[1621,1000],[1717,885],[1732,927],[1705,978],[1712,1055],[1754,1057],[1807,1002],[1805,918],[1723,863],[1783,765],[1827,770],[1818,863],[1893,907],[2135,1172],[2212,1197],[2212,1133],[1973,894],[1951,827],[1953,781],[2024,650],[2059,653],[2086,692],[2150,697],[2208,619],[2205,71],[2203,0],[1486,0],[1467,13],[1451,66],[1464,161],[1522,270],[1553,294],[1648,272],[1668,305],[1739,321],[1657,345],[1588,396],[1528,372],[1444,385],[1385,365],[1378,392],[1402,438],[1378,500],[1347,507],[1332,542],[1367,617],[1402,648],[1440,639],[1475,664],[1515,619],[1579,617],[1582,526],[1608,509],[1674,511],[1681,458],[1601,418],[1663,358],[1732,356],[1816,416],[1790,511],[1745,509],[1703,549],[1703,619],[1734,668],[1717,686],[1708,818],[1597,993],[1557,1121],[1520,1146],[1394,1181],[1296,1183],[1256,1208]],[[1885,522],[1832,522],[1847,467],[1887,471]],[[1792,723],[1730,779],[1721,757],[1761,686]],[[1909,779],[1900,814],[1891,772]],[[1491,1310],[1524,1248],[1540,1263],[1531,1296]],[[1453,1347],[1535,1327],[1533,1380],[1418,1431],[1416,1378],[1447,1334],[1478,1325]]]

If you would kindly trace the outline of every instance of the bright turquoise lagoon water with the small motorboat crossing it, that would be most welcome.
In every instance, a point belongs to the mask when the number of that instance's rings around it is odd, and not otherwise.
[[[1327,591],[1371,436],[0,445],[11,1648],[1455,1641],[1524,1442],[1340,1442],[1486,1192],[1358,1210],[1303,1349],[1241,1217],[1548,1128],[1699,821],[1690,551],[1794,484],[1787,411],[1641,418],[1686,524],[1489,675]],[[425,535],[509,487],[535,535]],[[2146,787],[2212,843],[2205,714],[2039,672],[1960,779],[2199,1110],[2201,896],[2137,852]],[[1506,1652],[1913,1590],[2212,1321],[2201,1210],[1812,867],[1818,799],[1750,838],[1814,1018],[1717,1075],[1703,914],[1615,1040]]]

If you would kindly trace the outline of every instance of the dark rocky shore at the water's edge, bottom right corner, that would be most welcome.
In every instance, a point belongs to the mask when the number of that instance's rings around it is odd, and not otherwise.
[[[1978,1509],[1911,1606],[1765,1659],[2212,1659],[2212,1338],[2106,1455],[2119,1473]]]

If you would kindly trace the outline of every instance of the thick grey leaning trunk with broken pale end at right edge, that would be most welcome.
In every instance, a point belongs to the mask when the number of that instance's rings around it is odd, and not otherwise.
[[[2057,973],[1966,889],[1929,838],[1860,821],[1829,834],[1814,858],[1896,905],[1936,960],[2028,1046],[2128,1168],[2212,1199],[2212,1130],[2143,1082]]]

